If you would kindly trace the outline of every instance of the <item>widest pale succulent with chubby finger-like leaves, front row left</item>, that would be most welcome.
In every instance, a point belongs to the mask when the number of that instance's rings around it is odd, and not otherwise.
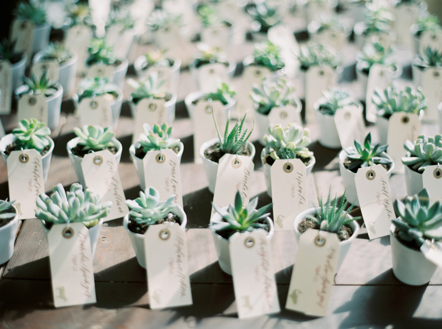
[[[52,192],[51,197],[42,193],[37,198],[35,217],[45,222],[82,222],[84,226],[92,227],[111,211],[111,201],[100,204],[101,197],[92,188],[87,187],[83,192],[83,187],[78,183],[72,184],[69,192],[58,184],[52,188]]]

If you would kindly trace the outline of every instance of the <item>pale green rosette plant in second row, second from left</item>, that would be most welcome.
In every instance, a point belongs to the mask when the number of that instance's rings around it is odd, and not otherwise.
[[[80,137],[78,145],[83,146],[83,150],[100,151],[105,148],[114,146],[112,138],[115,133],[110,127],[103,128],[101,126],[84,126],[83,129],[74,128],[74,133]]]

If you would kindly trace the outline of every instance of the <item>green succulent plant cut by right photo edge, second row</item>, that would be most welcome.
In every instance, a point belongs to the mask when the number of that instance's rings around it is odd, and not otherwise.
[[[427,165],[442,164],[442,135],[428,137],[420,135],[414,142],[406,140],[407,154],[402,163],[422,173]]]

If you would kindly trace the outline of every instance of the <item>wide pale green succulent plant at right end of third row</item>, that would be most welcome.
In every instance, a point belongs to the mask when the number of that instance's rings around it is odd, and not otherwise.
[[[386,118],[394,112],[419,114],[427,108],[427,101],[420,88],[413,90],[410,86],[401,90],[393,84],[383,91],[375,89],[372,100],[377,107],[377,115]]]

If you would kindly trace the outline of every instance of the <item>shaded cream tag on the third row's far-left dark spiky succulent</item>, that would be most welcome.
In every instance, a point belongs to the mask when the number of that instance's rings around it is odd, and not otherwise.
[[[48,101],[45,95],[23,95],[18,102],[17,120],[35,118],[48,125]]]

